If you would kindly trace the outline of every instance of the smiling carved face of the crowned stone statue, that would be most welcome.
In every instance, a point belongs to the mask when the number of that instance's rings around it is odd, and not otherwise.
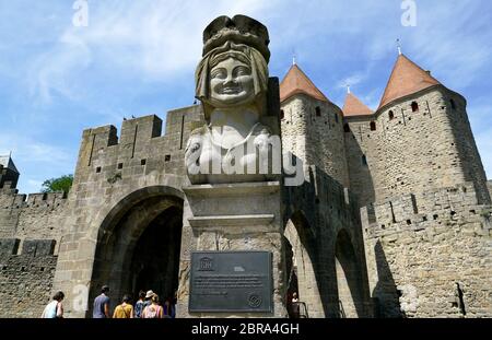
[[[251,69],[246,63],[227,58],[210,71],[210,104],[227,107],[249,104],[255,99]]]

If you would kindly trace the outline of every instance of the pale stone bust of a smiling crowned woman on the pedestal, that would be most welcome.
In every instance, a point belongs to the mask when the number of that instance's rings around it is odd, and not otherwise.
[[[220,16],[204,30],[203,44],[196,97],[206,125],[191,132],[185,152],[191,184],[274,179],[281,146],[278,113],[267,108],[267,28],[245,15]]]

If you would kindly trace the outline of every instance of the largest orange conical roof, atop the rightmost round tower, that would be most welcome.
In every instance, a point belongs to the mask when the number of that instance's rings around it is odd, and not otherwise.
[[[424,71],[405,55],[399,55],[380,99],[379,108],[395,99],[437,84],[441,84],[440,81],[430,72]]]

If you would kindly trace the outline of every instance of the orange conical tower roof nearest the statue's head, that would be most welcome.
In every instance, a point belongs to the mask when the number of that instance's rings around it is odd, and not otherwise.
[[[294,63],[280,83],[280,102],[300,93],[307,94],[318,101],[329,102],[323,92],[319,91],[311,79]]]

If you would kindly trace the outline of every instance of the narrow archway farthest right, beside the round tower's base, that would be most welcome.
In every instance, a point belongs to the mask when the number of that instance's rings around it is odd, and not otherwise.
[[[335,260],[340,317],[364,317],[361,268],[345,230],[338,233]]]

